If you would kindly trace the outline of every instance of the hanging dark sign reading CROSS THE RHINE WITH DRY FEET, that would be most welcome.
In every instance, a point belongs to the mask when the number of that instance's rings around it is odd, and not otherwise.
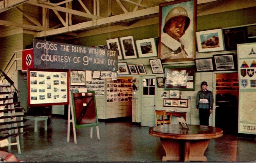
[[[117,71],[116,50],[33,40],[34,68]]]

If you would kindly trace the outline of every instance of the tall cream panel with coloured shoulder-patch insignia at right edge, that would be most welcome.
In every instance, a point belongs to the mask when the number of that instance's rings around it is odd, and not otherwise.
[[[238,133],[256,135],[256,43],[237,44]]]

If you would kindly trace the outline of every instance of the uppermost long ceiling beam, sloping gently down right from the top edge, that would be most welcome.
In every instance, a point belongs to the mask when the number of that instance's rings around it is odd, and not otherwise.
[[[102,18],[102,17],[97,16],[97,15],[92,15],[92,14],[88,14],[88,13],[85,13],[85,12],[68,9],[68,8],[65,8],[65,7],[51,6],[51,5],[48,5],[49,3],[41,4],[37,0],[30,0],[29,2],[27,2],[27,4],[32,4],[32,5],[36,5],[36,6],[40,6],[40,7],[45,7],[45,8],[60,11],[60,12],[66,12],[66,13],[70,13],[70,14],[73,14],[73,15],[78,15],[78,16],[82,16],[82,17],[90,18],[90,19],[100,19],[100,18]]]

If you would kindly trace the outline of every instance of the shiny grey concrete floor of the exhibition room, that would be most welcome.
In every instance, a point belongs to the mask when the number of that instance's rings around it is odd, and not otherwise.
[[[38,122],[38,132],[34,133],[33,121],[29,131],[20,136],[21,154],[17,146],[11,147],[19,160],[26,162],[159,162],[164,149],[160,138],[148,134],[149,127],[132,125],[131,120],[99,122],[100,140],[96,127],[90,139],[90,128],[77,128],[77,144],[74,144],[71,128],[70,142],[67,142],[67,120],[51,118],[48,131],[44,123]],[[210,162],[249,162],[256,160],[256,139],[237,137],[225,132],[220,138],[211,139],[204,155]],[[1,148],[8,151],[8,147]]]

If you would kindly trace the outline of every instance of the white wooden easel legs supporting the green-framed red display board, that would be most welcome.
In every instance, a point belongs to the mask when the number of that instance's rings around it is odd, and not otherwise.
[[[95,97],[95,96],[94,96]],[[76,120],[75,120],[75,115],[74,115],[74,107],[72,104],[70,104],[73,101],[73,96],[72,96],[72,91],[69,91],[69,105],[68,105],[68,136],[67,136],[67,142],[69,143],[70,140],[70,123],[72,123],[73,127],[73,135],[74,135],[74,143],[76,144]],[[70,116],[71,115],[71,116]],[[99,125],[93,125],[90,126],[88,124],[88,127],[91,127],[90,129],[90,138],[92,139],[92,131],[93,131],[93,126],[96,126],[96,131],[97,131],[97,138],[100,140],[100,132],[99,132]]]

